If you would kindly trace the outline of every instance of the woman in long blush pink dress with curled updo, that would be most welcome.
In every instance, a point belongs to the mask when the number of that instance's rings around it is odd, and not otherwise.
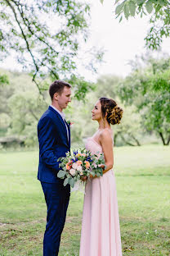
[[[111,98],[100,98],[92,109],[98,121],[96,133],[87,139],[86,149],[104,153],[103,176],[87,180],[79,256],[121,256],[119,210],[114,178],[111,125],[119,124],[123,109]]]

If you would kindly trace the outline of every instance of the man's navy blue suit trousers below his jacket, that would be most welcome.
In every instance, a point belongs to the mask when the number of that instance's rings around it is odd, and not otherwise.
[[[70,186],[58,183],[41,182],[47,203],[47,225],[43,238],[43,256],[56,256],[60,247],[60,235],[65,226],[69,205]]]

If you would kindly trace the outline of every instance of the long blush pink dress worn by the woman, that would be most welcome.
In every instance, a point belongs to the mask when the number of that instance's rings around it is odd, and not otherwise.
[[[87,139],[86,149],[102,153],[101,145],[93,138]],[[87,181],[79,256],[122,256],[113,170]]]

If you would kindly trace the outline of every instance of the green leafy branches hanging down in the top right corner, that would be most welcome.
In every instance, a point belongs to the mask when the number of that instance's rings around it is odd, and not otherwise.
[[[101,0],[103,2],[103,0]],[[119,21],[123,16],[152,15],[150,31],[145,37],[145,44],[150,49],[158,49],[163,37],[170,35],[170,1],[169,0],[115,0],[115,14]]]

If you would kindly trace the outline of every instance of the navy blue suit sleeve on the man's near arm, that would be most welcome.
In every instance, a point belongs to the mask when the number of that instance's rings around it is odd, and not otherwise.
[[[54,154],[55,126],[50,117],[43,117],[38,123],[39,153],[42,161],[54,171],[59,171],[59,162]]]

